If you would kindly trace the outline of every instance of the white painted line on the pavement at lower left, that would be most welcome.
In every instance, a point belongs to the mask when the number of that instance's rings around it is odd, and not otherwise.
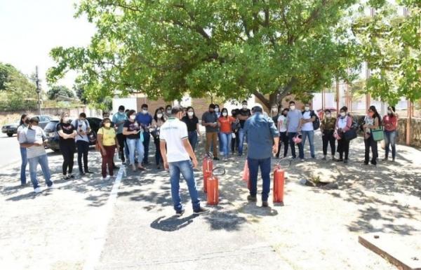
[[[90,248],[88,250],[88,257],[86,258],[83,270],[95,270],[95,266],[100,261],[102,248],[104,247],[105,238],[107,236],[108,222],[112,217],[114,204],[116,202],[117,194],[121,184],[121,178],[123,178],[123,176],[126,176],[125,166],[121,166],[119,169],[119,173],[117,174],[116,180],[114,181],[107,203],[105,204],[105,207],[102,208],[102,210],[97,214],[99,220],[98,229],[95,231],[93,239],[89,245]]]

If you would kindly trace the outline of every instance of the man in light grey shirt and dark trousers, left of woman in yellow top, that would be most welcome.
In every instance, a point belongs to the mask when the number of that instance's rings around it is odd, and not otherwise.
[[[85,175],[91,173],[88,170],[88,152],[89,152],[89,137],[88,134],[91,132],[91,126],[89,126],[88,120],[86,120],[86,114],[82,112],[79,114],[79,119],[72,121],[72,126],[76,128],[76,148],[77,148],[77,163],[79,166],[79,174]],[[82,166],[83,158],[83,166]],[[84,169],[84,170],[83,170]]]

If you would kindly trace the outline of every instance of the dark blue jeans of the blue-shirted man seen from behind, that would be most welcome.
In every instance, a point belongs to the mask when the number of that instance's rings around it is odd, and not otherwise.
[[[267,198],[269,198],[270,191],[271,158],[247,158],[247,162],[248,170],[250,170],[250,195],[256,196],[258,194],[258,173],[260,166],[260,173],[262,173],[263,179],[262,201],[267,201]]]

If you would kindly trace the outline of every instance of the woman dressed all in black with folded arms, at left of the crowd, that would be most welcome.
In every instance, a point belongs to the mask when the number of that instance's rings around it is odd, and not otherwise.
[[[57,133],[60,139],[60,152],[63,156],[62,173],[64,180],[74,178],[74,175],[72,175],[74,152],[76,150],[74,139],[76,138],[77,132],[72,123],[69,123],[69,120],[69,114],[63,112],[60,116],[60,122],[57,125]]]

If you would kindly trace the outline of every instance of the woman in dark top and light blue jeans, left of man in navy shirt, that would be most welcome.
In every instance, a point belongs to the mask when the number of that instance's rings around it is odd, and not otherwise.
[[[136,112],[131,109],[127,113],[128,120],[124,123],[123,134],[126,136],[126,143],[128,147],[129,159],[133,171],[136,170],[135,152],[138,152],[138,168],[145,170],[142,166],[143,155],[145,154],[143,148],[142,126],[136,121]]]

